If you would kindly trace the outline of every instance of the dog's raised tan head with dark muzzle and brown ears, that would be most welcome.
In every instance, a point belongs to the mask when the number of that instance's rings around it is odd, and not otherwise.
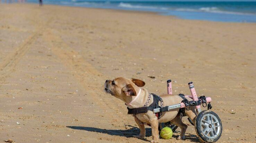
[[[104,85],[107,93],[122,100],[124,96],[136,96],[138,86],[144,86],[145,82],[138,79],[115,78],[106,80]]]

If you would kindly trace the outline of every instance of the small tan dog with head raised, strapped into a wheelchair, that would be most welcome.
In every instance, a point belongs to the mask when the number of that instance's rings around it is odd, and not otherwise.
[[[125,103],[130,103],[131,101],[133,101],[131,105],[130,104],[127,105],[128,108],[139,108],[139,107],[143,107],[149,95],[146,89],[139,88],[144,85],[145,85],[145,82],[138,79],[115,78],[114,80],[106,80],[105,91],[115,96],[116,98],[122,100]],[[165,94],[165,95],[161,95],[160,97],[163,99],[163,106],[178,104],[183,100],[182,97],[179,95]],[[186,99],[191,101],[190,98],[186,98]],[[153,98],[151,98],[148,105],[150,105],[151,103],[153,103]],[[162,117],[160,119],[157,119],[156,115],[152,111],[148,111],[146,113],[139,113],[139,114],[136,114],[136,116],[140,121],[151,125],[152,136],[153,136],[153,140],[151,141],[151,143],[159,142],[159,131],[158,131],[159,123],[169,122],[169,121],[171,121],[171,123],[181,128],[180,136],[177,139],[184,140],[187,125],[182,123],[180,115],[178,115],[178,111],[179,109],[163,112]],[[195,108],[191,107],[191,110],[189,111],[185,110],[185,113],[195,124],[195,117],[196,117]],[[145,139],[146,130],[145,130],[144,124],[140,124],[136,119],[135,121],[139,126],[140,133],[138,136],[134,136],[134,137]]]

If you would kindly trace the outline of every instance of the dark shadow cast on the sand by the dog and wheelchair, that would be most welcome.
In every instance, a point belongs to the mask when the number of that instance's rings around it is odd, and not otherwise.
[[[105,133],[109,135],[118,135],[118,136],[124,136],[124,137],[133,137],[133,135],[139,134],[139,128],[130,126],[130,125],[126,125],[126,126],[129,126],[132,128],[127,130],[107,130],[107,129],[100,129],[96,127],[84,127],[84,126],[67,126],[67,127],[75,130],[84,130],[84,131]],[[179,131],[175,131],[172,137],[177,138],[179,134],[180,134]],[[151,128],[146,128],[146,137],[148,136],[152,136]],[[147,139],[142,139],[142,140],[148,141]],[[190,133],[186,133],[186,140],[189,140],[191,142],[199,142],[198,137]]]

